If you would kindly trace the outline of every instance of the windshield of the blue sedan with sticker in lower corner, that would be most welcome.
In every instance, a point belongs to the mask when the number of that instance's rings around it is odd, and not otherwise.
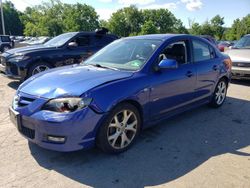
[[[97,52],[84,64],[136,71],[147,62],[161,43],[161,40],[151,39],[116,40]]]

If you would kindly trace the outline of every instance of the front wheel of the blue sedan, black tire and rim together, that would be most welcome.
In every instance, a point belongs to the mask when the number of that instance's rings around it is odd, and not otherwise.
[[[110,154],[124,152],[134,144],[140,129],[141,117],[137,108],[121,103],[108,114],[99,128],[97,146]]]

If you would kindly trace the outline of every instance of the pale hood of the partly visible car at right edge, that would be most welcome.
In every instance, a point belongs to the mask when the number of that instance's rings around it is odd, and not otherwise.
[[[250,62],[250,49],[230,49],[225,53],[233,62]]]

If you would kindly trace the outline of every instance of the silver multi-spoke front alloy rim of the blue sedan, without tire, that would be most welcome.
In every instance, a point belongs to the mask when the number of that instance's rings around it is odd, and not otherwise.
[[[108,142],[114,149],[127,147],[135,138],[138,120],[134,112],[123,110],[117,113],[108,126]]]

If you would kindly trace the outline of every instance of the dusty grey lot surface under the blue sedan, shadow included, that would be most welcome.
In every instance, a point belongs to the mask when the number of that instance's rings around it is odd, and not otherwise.
[[[250,82],[206,106],[143,131],[126,153],[73,153],[30,144],[10,123],[18,82],[0,75],[0,187],[250,187]]]

